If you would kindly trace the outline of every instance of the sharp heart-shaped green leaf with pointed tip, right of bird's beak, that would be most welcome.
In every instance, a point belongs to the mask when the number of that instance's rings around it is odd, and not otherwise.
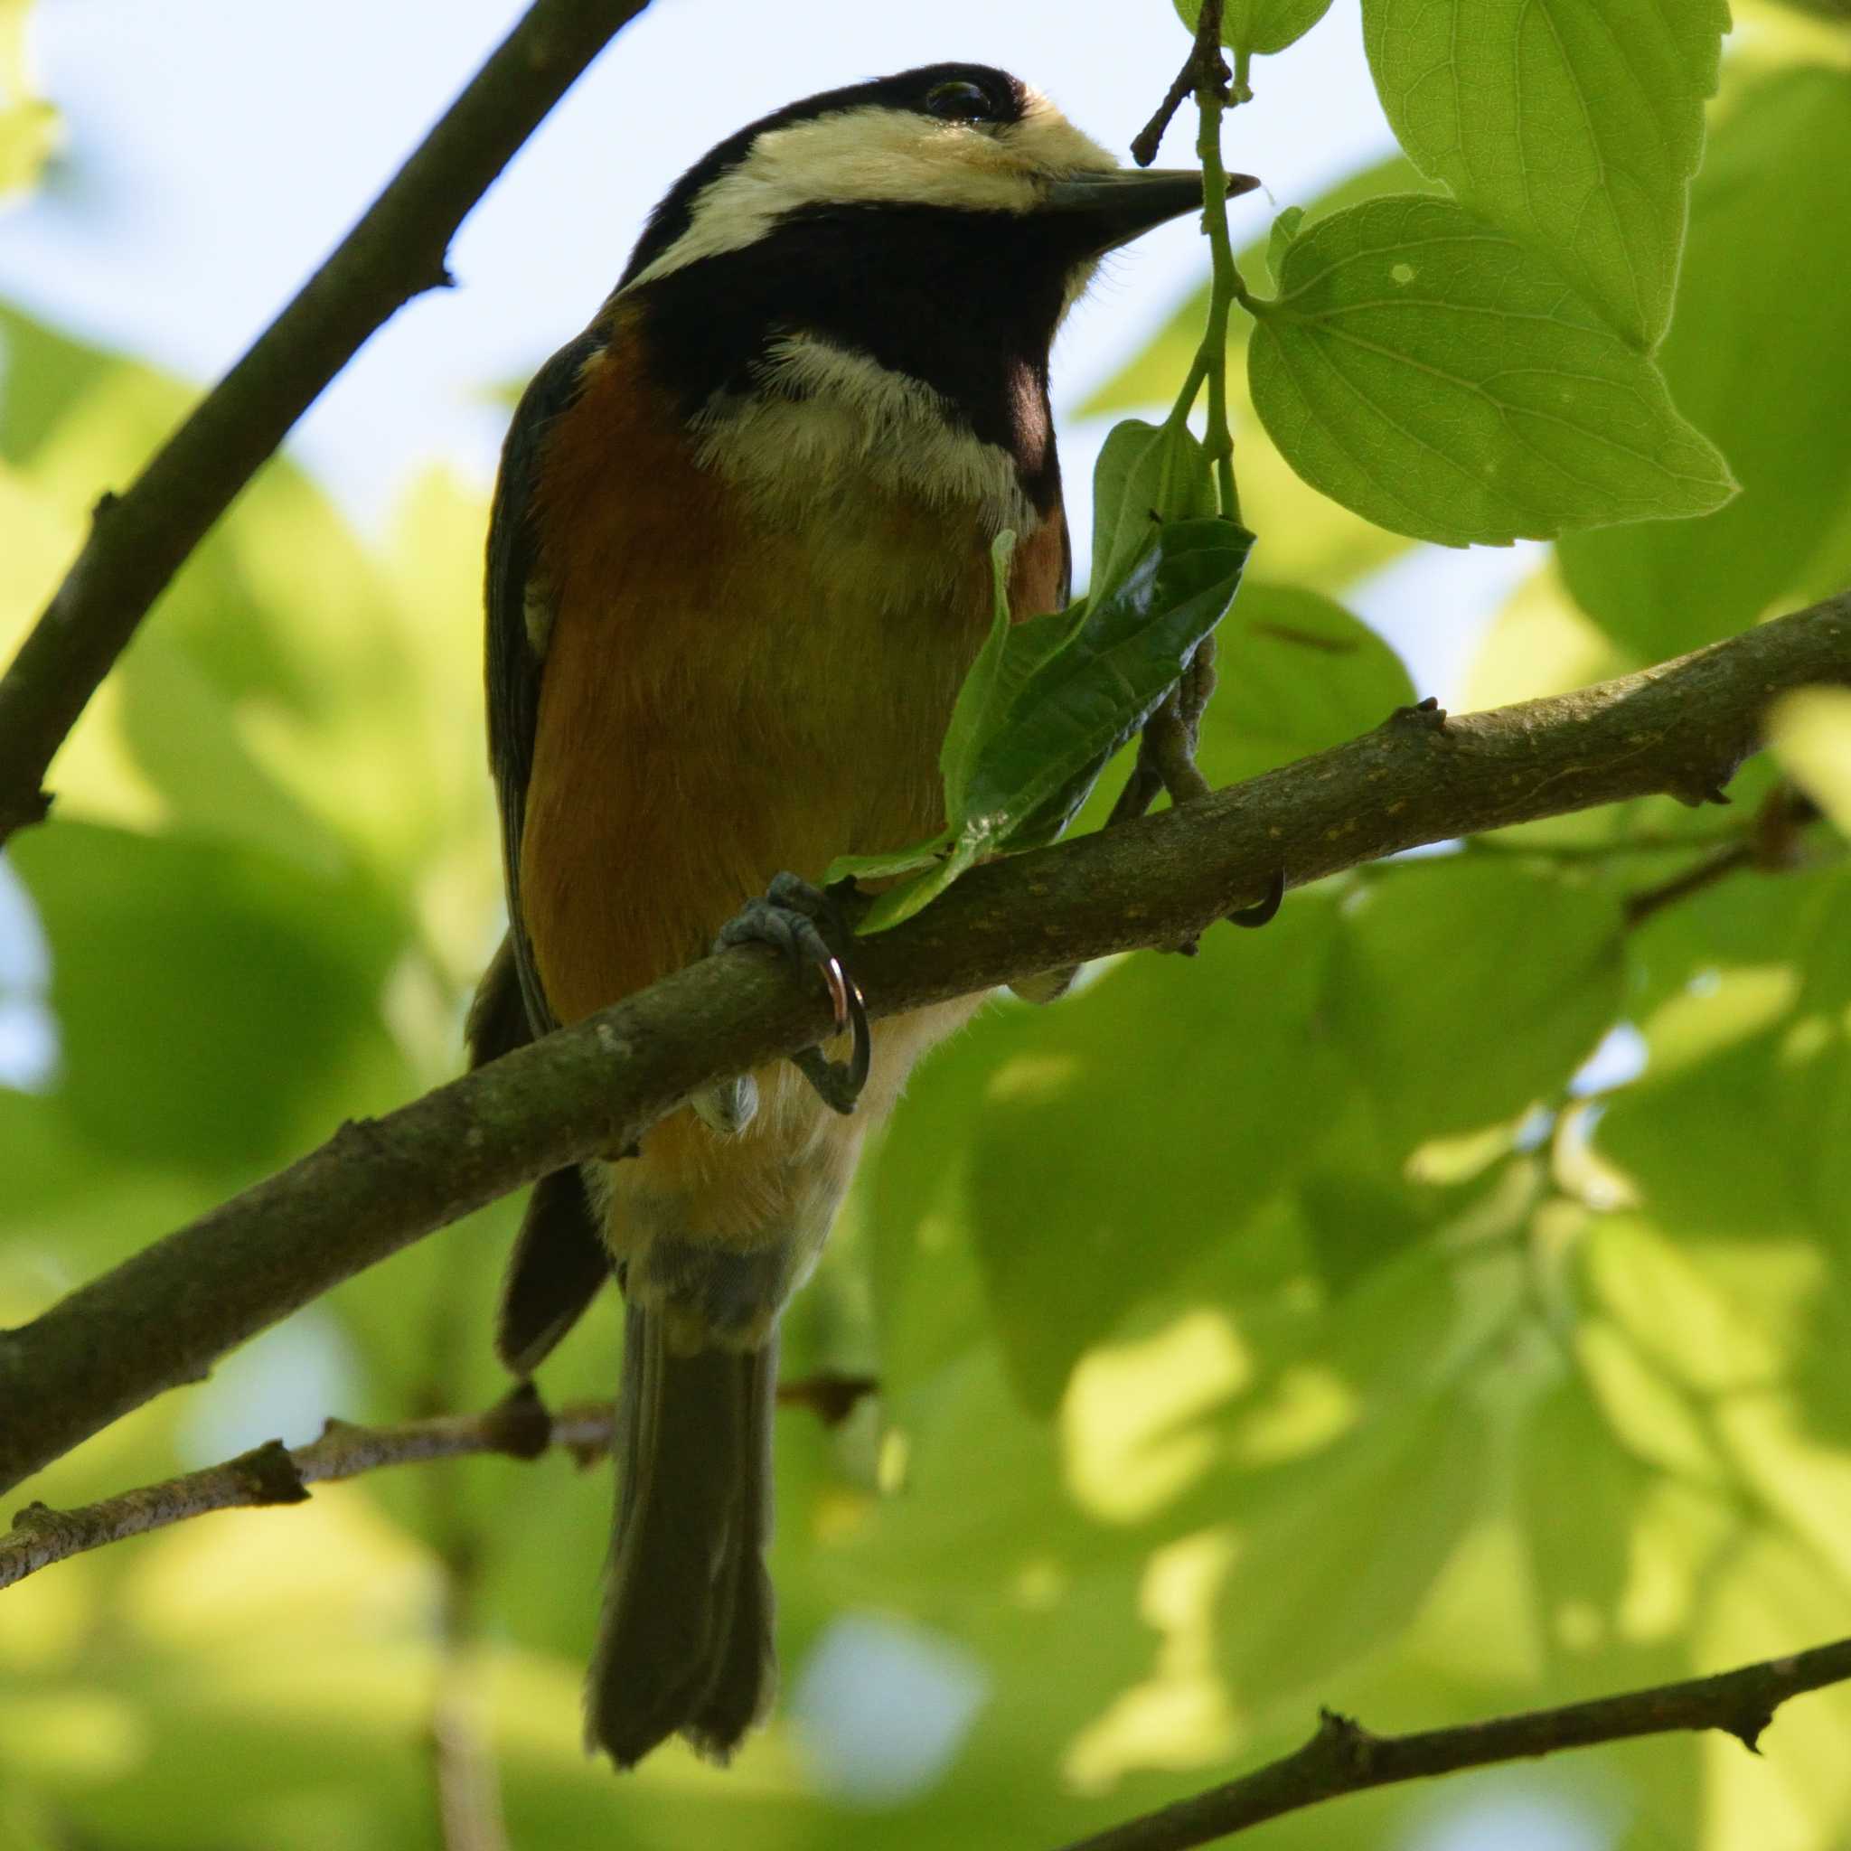
[[[1734,491],[1651,361],[1451,200],[1323,218],[1257,304],[1253,404],[1305,481],[1446,546],[1707,515]]]

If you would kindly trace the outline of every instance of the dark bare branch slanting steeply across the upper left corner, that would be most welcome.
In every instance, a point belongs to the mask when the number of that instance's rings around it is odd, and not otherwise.
[[[0,844],[41,822],[52,755],[135,626],[368,335],[450,281],[468,209],[574,78],[648,0],[535,0],[365,217],[89,539],[0,679]]]

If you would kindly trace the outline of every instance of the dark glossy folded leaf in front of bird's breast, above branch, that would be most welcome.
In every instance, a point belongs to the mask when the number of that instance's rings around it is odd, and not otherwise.
[[[1131,574],[1022,685],[977,752],[966,829],[1000,844],[1098,772],[1148,718],[1235,600],[1253,535],[1231,520],[1159,528]],[[1090,787],[1088,787],[1090,789]],[[1077,809],[1085,790],[1074,800]]]

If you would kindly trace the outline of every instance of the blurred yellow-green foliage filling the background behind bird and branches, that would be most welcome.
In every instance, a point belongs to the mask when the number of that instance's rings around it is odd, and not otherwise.
[[[1538,574],[1488,626],[1475,698],[1844,578],[1851,342],[1829,339],[1842,213],[1818,159],[1842,87],[1744,87],[1694,189],[1664,366],[1747,492],[1564,546],[1583,607]],[[1362,176],[1307,226],[1407,187]],[[17,313],[0,329],[9,650],[187,392]],[[1161,405],[1192,342],[1161,335],[1101,402]],[[1325,596],[1403,542],[1235,413],[1264,578],[1222,627],[1214,781],[1414,692]],[[11,855],[57,1059],[0,1090],[0,1322],[457,1066],[500,905],[483,516],[433,476],[365,546],[272,465],[57,761],[57,818]],[[1838,722],[1807,724],[1786,763],[1851,805]],[[1744,774],[1742,811],[1773,777]],[[516,1845],[1014,1851],[1294,1745],[1320,1703],[1425,1727],[1851,1631],[1851,866],[1816,829],[1795,868],[1627,926],[1629,896],[1731,827],[1651,801],[1359,870],[1196,959],[998,1003],[942,1050],[789,1318],[789,1370],[874,1368],[883,1394],[837,1433],[783,1416],[787,1692],[724,1777],[681,1749],[624,1781],[581,1757],[611,1488],[489,1460],[185,1523],[0,1596],[0,1847],[437,1845],[442,1720],[483,1744]],[[1640,1074],[1577,1079],[1629,1029]],[[204,1462],[215,1422],[272,1394],[291,1438],[491,1399],[509,1225],[500,1205],[352,1281],[296,1349],[259,1340],[30,1496]],[[304,1346],[339,1405],[289,1401]],[[546,1394],[609,1392],[615,1348],[605,1305]],[[863,1686],[840,1670],[857,1614],[901,1666]],[[1516,1795],[1616,1851],[1829,1851],[1847,1729],[1827,1692],[1764,1758],[1666,1738],[1251,1842],[1409,1851],[1447,1808]]]

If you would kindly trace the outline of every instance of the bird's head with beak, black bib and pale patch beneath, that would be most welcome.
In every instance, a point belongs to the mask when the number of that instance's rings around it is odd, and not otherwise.
[[[1061,317],[1105,252],[1199,204],[1199,174],[1122,168],[1007,72],[927,65],[696,161],[613,309],[702,459],[763,500],[853,479],[1024,528],[1059,500]]]

